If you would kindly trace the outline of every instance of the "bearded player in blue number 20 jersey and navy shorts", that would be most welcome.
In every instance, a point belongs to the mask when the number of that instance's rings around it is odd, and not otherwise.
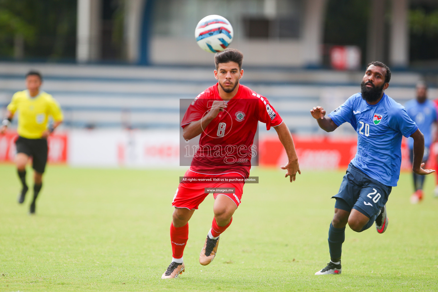
[[[319,127],[332,132],[348,122],[357,132],[357,153],[343,177],[336,198],[335,215],[329,228],[330,262],[315,275],[340,274],[345,226],[362,232],[376,222],[377,232],[388,227],[386,201],[397,185],[402,159],[402,135],[413,138],[413,172],[423,169],[424,137],[405,108],[385,94],[391,71],[381,62],[368,64],[360,83],[361,92],[350,96],[325,117],[321,106],[311,109]]]

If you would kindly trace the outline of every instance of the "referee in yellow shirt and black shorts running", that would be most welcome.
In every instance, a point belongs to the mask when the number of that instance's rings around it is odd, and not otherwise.
[[[1,134],[7,129],[16,111],[18,111],[18,139],[16,165],[18,176],[23,186],[18,196],[18,203],[25,201],[28,191],[26,185],[26,164],[32,157],[32,168],[35,170],[33,200],[29,214],[35,214],[35,201],[42,187],[42,174],[47,162],[47,137],[62,123],[63,114],[59,104],[52,95],[39,88],[42,84],[41,74],[30,71],[26,74],[27,90],[18,91],[12,96],[7,106],[7,117],[3,120]],[[49,116],[53,117],[53,124],[47,127]]]

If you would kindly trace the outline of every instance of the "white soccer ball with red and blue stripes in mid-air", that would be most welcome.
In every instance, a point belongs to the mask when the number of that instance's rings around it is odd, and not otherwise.
[[[220,15],[208,15],[196,25],[194,37],[204,51],[221,52],[233,40],[233,27],[230,21]]]

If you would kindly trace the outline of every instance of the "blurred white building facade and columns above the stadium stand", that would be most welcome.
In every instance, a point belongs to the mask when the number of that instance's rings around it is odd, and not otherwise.
[[[99,60],[102,0],[78,0],[77,60]],[[371,0],[367,61],[382,60],[385,9],[390,7],[389,63],[409,65],[409,0]],[[126,0],[124,46],[136,64],[210,64],[212,54],[194,40],[198,21],[209,14],[227,18],[234,28],[230,47],[246,65],[320,67],[327,0]]]

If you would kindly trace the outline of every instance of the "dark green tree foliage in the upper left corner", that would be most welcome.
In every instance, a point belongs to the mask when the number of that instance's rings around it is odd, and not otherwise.
[[[11,58],[14,38],[25,58],[74,58],[77,0],[0,0],[0,58]]]

